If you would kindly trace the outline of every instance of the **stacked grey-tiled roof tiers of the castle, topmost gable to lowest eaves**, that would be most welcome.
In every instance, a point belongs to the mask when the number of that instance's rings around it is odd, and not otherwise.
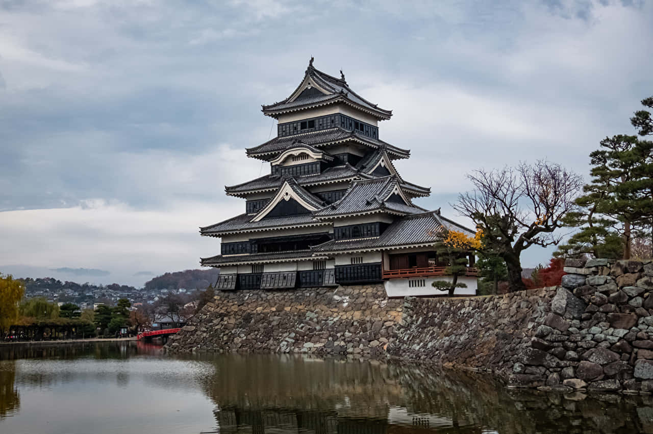
[[[317,107],[328,110],[317,116],[313,110]],[[302,110],[306,110],[305,118]],[[473,235],[470,229],[443,218],[439,210],[426,211],[412,203],[413,197],[430,195],[430,188],[407,182],[394,167],[392,161],[409,158],[409,150],[378,139],[377,121],[389,119],[392,112],[353,92],[344,75],[336,78],[318,71],[311,58],[295,92],[279,103],[263,106],[263,112],[279,119],[279,136],[247,148],[247,156],[270,162],[271,173],[225,187],[227,195],[245,197],[248,204],[251,200],[256,206],[201,227],[203,236],[267,232],[270,235],[258,237],[271,239],[275,231],[306,227],[315,227],[315,233],[320,233],[336,221],[346,225],[347,218],[373,214],[382,214],[381,220],[392,223],[384,223],[387,227],[377,237],[319,241],[322,244],[310,250],[293,252],[253,252],[235,258],[233,254],[217,255],[203,258],[202,265],[308,261],[350,250],[432,245],[440,236],[438,227]],[[295,170],[303,165],[313,166],[310,171]],[[334,185],[332,190],[328,190],[329,184]],[[328,200],[325,190],[338,194]]]

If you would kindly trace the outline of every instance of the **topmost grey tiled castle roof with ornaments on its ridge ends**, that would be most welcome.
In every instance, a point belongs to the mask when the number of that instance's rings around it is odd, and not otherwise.
[[[379,119],[389,119],[392,116],[392,110],[385,110],[378,107],[376,104],[370,103],[356,92],[349,88],[349,85],[344,80],[344,78],[336,78],[334,76],[323,73],[313,67],[312,60],[306,69],[304,78],[299,86],[302,85],[306,77],[310,76],[313,80],[323,89],[327,90],[329,93],[323,95],[315,95],[308,98],[296,99],[295,101],[288,101],[290,97],[280,101],[278,103],[264,105],[263,112],[265,114],[274,116],[276,113],[281,113],[293,109],[311,107],[313,105],[323,105],[325,103],[330,103],[332,101],[348,101],[357,105],[360,108],[364,108],[369,112],[372,112]],[[291,93],[293,95],[298,89],[299,86]]]

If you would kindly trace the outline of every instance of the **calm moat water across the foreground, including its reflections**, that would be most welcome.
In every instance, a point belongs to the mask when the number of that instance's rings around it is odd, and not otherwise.
[[[0,346],[0,433],[653,433],[650,396],[509,390],[374,359]]]

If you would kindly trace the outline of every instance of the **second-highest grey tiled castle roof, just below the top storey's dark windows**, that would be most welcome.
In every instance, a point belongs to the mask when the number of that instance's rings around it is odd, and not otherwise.
[[[358,141],[370,146],[371,148],[385,146],[391,158],[408,158],[410,156],[410,150],[398,148],[387,142],[372,139],[372,137],[364,136],[355,131],[347,131],[342,127],[322,129],[320,131],[313,131],[305,134],[275,137],[270,141],[259,144],[259,146],[247,148],[246,152],[249,157],[259,158],[266,156],[266,158],[263,159],[267,160],[276,157],[287,149],[293,148],[297,141],[319,148],[334,142],[343,142],[347,140]]]

